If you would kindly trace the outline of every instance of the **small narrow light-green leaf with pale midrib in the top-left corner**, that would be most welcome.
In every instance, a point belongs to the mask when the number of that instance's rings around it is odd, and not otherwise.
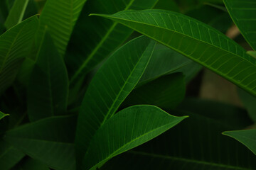
[[[7,29],[21,23],[28,5],[28,1],[29,0],[16,0],[14,2],[14,6],[11,7],[11,11],[6,18],[6,22],[4,23],[4,26],[6,26]]]

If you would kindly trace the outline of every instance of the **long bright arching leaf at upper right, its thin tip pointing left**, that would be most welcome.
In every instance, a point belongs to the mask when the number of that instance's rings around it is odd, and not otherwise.
[[[137,30],[256,96],[256,60],[233,40],[193,18],[164,10],[95,14]]]

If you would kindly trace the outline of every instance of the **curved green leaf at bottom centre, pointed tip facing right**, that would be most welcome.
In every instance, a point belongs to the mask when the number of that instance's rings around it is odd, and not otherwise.
[[[85,154],[82,169],[95,169],[102,162],[169,130],[184,118],[169,115],[156,106],[126,108],[97,130]]]

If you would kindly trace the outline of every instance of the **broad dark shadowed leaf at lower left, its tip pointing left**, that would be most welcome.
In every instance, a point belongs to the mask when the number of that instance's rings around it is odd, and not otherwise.
[[[52,169],[74,170],[75,122],[74,115],[38,120],[7,131],[4,140]]]

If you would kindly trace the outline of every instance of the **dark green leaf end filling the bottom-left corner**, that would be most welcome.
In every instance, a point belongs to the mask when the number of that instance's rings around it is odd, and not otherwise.
[[[0,169],[9,170],[15,166],[25,154],[4,140],[0,140]]]

